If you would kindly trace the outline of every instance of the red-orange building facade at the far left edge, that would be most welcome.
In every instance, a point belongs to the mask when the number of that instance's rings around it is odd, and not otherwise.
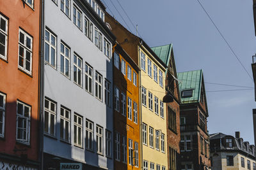
[[[40,1],[0,1],[0,169],[38,169]]]

